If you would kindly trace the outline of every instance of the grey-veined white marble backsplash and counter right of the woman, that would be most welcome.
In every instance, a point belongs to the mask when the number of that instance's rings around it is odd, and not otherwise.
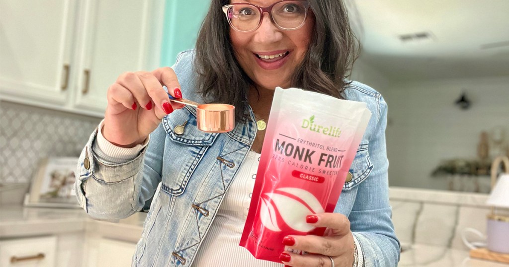
[[[488,195],[397,187],[389,191],[392,222],[404,244],[399,266],[509,266],[471,259],[463,242],[463,238],[470,242],[486,240],[486,216],[491,213],[486,204]],[[482,236],[467,229],[475,229]]]

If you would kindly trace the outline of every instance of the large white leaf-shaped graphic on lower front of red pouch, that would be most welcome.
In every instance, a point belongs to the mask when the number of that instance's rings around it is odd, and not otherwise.
[[[260,218],[267,229],[280,232],[285,224],[301,232],[315,229],[305,222],[305,217],[323,213],[324,210],[312,193],[292,187],[278,188],[276,191],[280,192],[266,193],[261,198]]]

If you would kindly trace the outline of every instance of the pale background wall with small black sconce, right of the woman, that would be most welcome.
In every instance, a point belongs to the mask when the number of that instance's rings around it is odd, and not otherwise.
[[[468,110],[454,104],[462,92]],[[430,176],[441,160],[475,159],[480,133],[497,126],[509,138],[509,77],[391,82],[383,96],[391,186],[445,190],[446,179]]]

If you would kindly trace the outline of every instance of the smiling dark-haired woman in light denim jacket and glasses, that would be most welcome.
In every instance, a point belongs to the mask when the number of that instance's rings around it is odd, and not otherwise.
[[[104,121],[78,165],[83,209],[125,218],[150,204],[133,265],[280,266],[238,244],[265,136],[255,122],[267,121],[276,86],[300,87],[366,102],[373,116],[335,212],[306,218],[330,234],[287,236],[281,263],[397,265],[387,108],[369,86],[346,81],[355,49],[341,1],[212,1],[195,51],[181,53],[173,69],[125,73],[109,87]],[[235,129],[197,130],[195,110],[170,102],[162,85],[176,98],[235,105]]]

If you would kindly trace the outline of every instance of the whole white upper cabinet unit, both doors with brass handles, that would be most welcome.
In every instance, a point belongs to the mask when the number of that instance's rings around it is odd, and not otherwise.
[[[163,0],[0,0],[0,98],[102,116],[126,71],[158,67]]]

